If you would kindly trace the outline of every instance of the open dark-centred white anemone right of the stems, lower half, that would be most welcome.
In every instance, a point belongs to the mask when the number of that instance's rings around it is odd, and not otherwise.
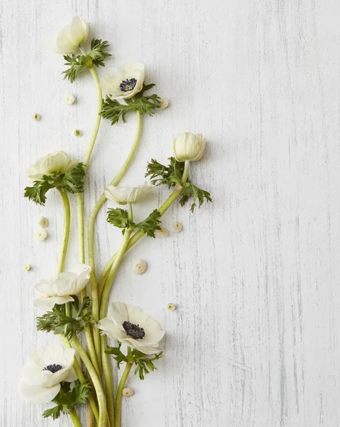
[[[119,339],[128,347],[144,354],[159,352],[160,340],[165,332],[153,317],[140,307],[114,302],[109,306],[107,316],[99,321],[99,329],[112,339]]]

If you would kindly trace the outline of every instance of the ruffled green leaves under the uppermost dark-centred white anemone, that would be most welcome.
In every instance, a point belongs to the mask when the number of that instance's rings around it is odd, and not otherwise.
[[[111,125],[116,125],[119,119],[126,122],[126,114],[128,112],[138,110],[141,114],[148,114],[153,116],[156,108],[160,107],[160,97],[156,94],[150,96],[143,96],[143,93],[150,88],[153,88],[154,84],[144,85],[141,92],[139,92],[134,99],[125,100],[125,104],[121,104],[118,100],[113,100],[109,95],[106,95],[103,101],[102,112],[100,113],[104,119],[110,120]]]

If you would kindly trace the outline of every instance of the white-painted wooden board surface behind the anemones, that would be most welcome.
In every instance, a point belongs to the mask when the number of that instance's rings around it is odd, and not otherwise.
[[[143,61],[147,81],[170,98],[167,110],[146,118],[124,184],[143,183],[147,160],[165,161],[177,132],[209,141],[192,179],[214,203],[193,215],[174,206],[164,224],[180,221],[183,232],[144,240],[119,271],[112,300],[141,305],[167,331],[159,370],[129,381],[136,394],[124,401],[124,426],[339,426],[339,0],[1,2],[0,426],[70,426],[67,418],[43,421],[43,408],[23,403],[17,383],[28,352],[55,339],[35,331],[33,285],[53,273],[62,228],[56,194],[41,208],[23,199],[26,168],[56,149],[82,159],[94,122],[90,76],[62,80],[62,57],[50,51],[76,14],[111,43],[101,75]],[[62,100],[69,92],[72,107]],[[134,126],[134,117],[103,123],[87,214]],[[50,220],[45,243],[34,239],[41,214]],[[77,260],[72,226],[69,266]],[[102,211],[98,267],[119,239]],[[131,273],[136,258],[148,261],[145,275]]]

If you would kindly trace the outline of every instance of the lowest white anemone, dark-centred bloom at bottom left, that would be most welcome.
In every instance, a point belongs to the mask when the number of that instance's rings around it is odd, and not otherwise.
[[[28,358],[23,367],[19,391],[31,404],[48,404],[60,391],[62,381],[72,382],[77,375],[72,367],[74,349],[60,344],[40,347]]]

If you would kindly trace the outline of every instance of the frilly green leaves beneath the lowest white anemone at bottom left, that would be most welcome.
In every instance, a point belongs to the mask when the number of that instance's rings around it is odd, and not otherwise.
[[[53,408],[47,409],[43,413],[44,418],[52,417],[54,420],[60,417],[60,413],[70,413],[72,409],[81,404],[86,404],[89,396],[91,396],[91,385],[89,382],[80,383],[75,381],[73,388],[70,388],[70,383],[62,382],[61,388],[53,403],[56,404]]]

